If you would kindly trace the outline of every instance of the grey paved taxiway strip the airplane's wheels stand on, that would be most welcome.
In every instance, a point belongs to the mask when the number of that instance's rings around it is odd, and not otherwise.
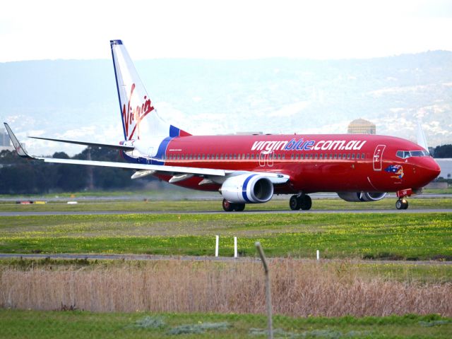
[[[277,213],[291,213],[291,214],[340,214],[340,213],[391,213],[391,214],[403,214],[403,213],[452,213],[452,208],[436,208],[436,209],[408,209],[408,210],[244,210],[243,212],[225,212],[222,210],[198,210],[198,211],[186,211],[186,210],[94,210],[94,211],[45,211],[45,212],[0,212],[0,217],[18,217],[18,216],[37,216],[37,215],[128,215],[128,214],[277,214]]]

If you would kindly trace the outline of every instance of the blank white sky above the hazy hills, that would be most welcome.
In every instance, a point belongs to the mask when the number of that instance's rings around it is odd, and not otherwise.
[[[356,59],[452,50],[452,1],[4,1],[0,62],[109,59]]]

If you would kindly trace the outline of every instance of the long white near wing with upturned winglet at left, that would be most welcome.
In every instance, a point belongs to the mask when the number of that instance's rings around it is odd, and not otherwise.
[[[169,175],[175,175],[173,182],[177,182],[179,178],[182,178],[181,174],[187,174],[187,176],[199,176],[199,177],[213,177],[215,178],[213,181],[216,183],[221,183],[226,179],[226,177],[244,174],[246,171],[233,171],[230,169],[212,169],[212,168],[202,168],[202,167],[184,167],[184,166],[167,166],[167,165],[148,165],[148,164],[138,164],[138,163],[130,163],[130,162],[110,162],[110,161],[95,161],[95,160],[76,160],[76,159],[58,159],[53,157],[35,157],[29,155],[27,151],[20,145],[18,138],[14,135],[11,128],[8,124],[4,123],[6,127],[6,131],[8,131],[9,137],[16,149],[16,152],[20,157],[25,157],[28,159],[42,160],[44,162],[55,162],[59,164],[71,164],[71,165],[90,165],[90,166],[102,166],[102,167],[117,167],[117,168],[126,168],[126,169],[137,169],[138,171],[146,171],[148,174],[155,174],[157,172],[165,173]],[[47,139],[44,140],[52,140],[59,141],[58,139]],[[78,143],[78,142],[73,142]],[[88,143],[81,143],[82,145]],[[102,145],[103,144],[93,144],[90,145]],[[268,177],[273,184],[284,184],[289,180],[289,176],[285,174],[273,173],[273,172],[253,172],[254,174],[260,174],[265,177]],[[137,177],[140,177],[138,175]]]

